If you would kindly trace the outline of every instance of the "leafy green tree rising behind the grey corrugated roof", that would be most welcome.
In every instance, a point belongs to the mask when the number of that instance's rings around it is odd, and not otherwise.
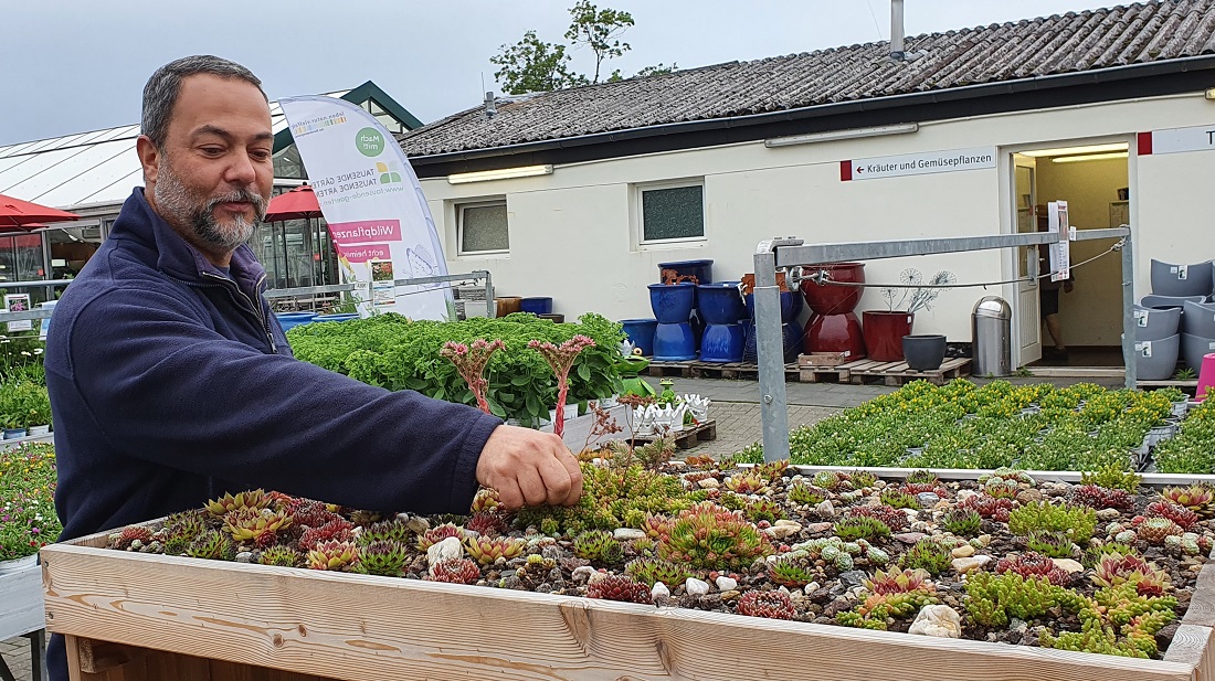
[[[604,80],[600,80],[600,72],[605,61],[632,50],[628,42],[620,40],[620,36],[633,24],[633,16],[628,12],[610,7],[600,10],[589,0],[578,0],[570,7],[570,28],[565,32],[565,39],[570,41],[571,47],[586,46],[594,52],[593,76],[587,78],[571,70],[570,55],[566,53],[570,47],[560,42],[544,42],[536,36],[535,30],[525,33],[524,39],[513,46],[502,45],[499,52],[490,57],[490,63],[499,67],[493,76],[510,95],[621,80],[623,76],[620,69],[614,69]],[[635,75],[657,75],[678,68],[677,64],[666,67],[660,63],[645,67]]]

